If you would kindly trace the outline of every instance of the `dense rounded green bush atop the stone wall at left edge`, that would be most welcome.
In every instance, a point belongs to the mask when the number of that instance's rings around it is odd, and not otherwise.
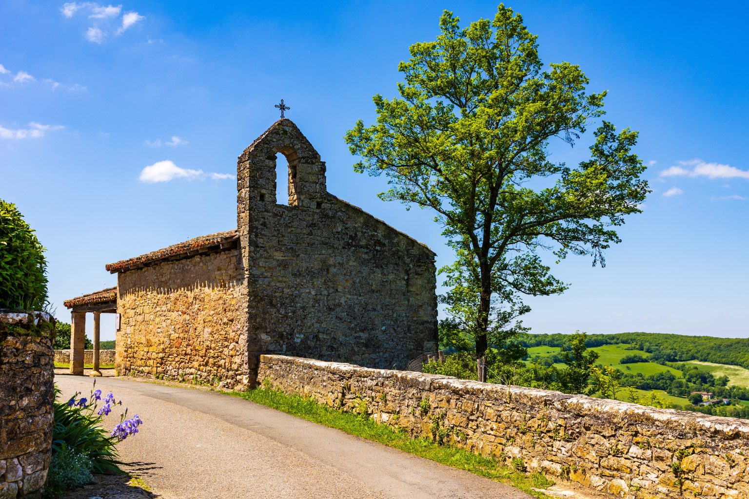
[[[43,310],[44,248],[13,203],[0,199],[0,308]]]

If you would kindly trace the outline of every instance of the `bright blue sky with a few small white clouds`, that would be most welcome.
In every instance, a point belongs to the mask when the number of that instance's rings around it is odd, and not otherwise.
[[[528,301],[534,332],[749,336],[749,7],[654,3],[509,4],[545,63],[580,64],[590,90],[609,91],[607,119],[640,131],[653,189],[604,269],[554,265],[571,287]],[[342,136],[372,121],[372,95],[395,94],[398,62],[434,39],[443,9],[468,22],[496,5],[1,2],[0,198],[48,248],[58,316],[70,319],[64,299],[116,284],[106,263],[234,227],[237,156],[280,98],[330,192],[450,263],[432,214],[380,201],[383,180],[354,173]],[[554,156],[579,162],[589,141]]]

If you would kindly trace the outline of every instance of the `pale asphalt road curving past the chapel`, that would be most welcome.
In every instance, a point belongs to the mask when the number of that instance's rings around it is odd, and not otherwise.
[[[63,397],[91,392],[91,378],[55,382]],[[237,397],[117,378],[97,388],[143,420],[118,449],[165,499],[531,497]],[[108,419],[114,426],[118,413]]]

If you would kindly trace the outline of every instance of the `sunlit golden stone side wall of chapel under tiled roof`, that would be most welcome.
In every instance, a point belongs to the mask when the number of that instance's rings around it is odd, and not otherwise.
[[[118,375],[246,385],[240,266],[234,249],[121,272]]]

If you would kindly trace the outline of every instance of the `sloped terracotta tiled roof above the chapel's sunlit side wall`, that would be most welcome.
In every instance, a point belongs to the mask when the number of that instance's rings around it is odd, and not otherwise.
[[[194,257],[196,254],[233,247],[237,239],[239,239],[239,233],[237,233],[236,229],[208,234],[207,236],[195,237],[157,251],[151,251],[151,253],[142,254],[139,257],[128,258],[127,260],[120,260],[115,263],[107,263],[106,269],[114,274],[115,272],[141,269],[142,267],[162,261],[181,260],[182,258]]]

